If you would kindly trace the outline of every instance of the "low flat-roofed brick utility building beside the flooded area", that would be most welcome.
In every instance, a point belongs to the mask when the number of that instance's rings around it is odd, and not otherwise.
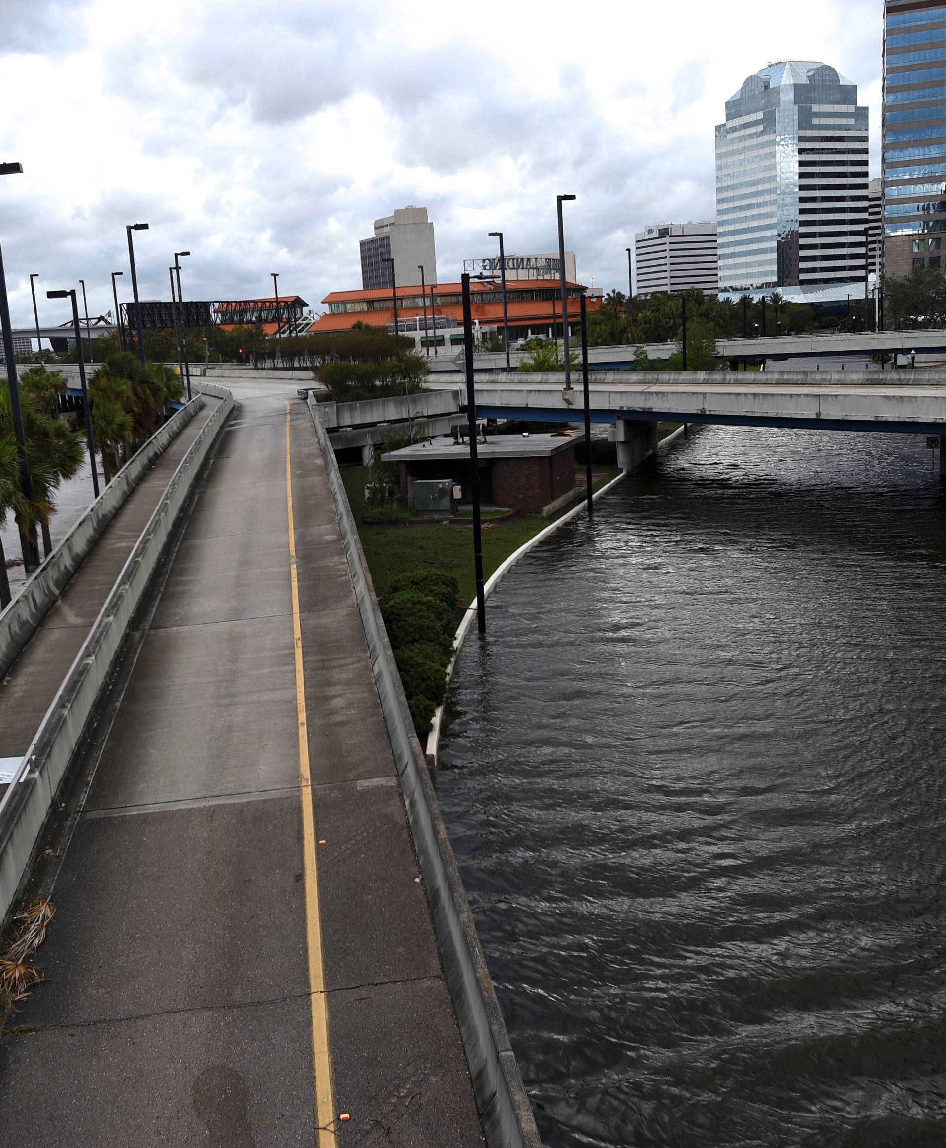
[[[553,514],[576,495],[575,447],[579,430],[550,434],[493,434],[480,441],[480,501],[520,514]],[[449,480],[470,502],[470,442],[432,439],[383,456],[397,463],[403,502],[413,506],[416,482]]]

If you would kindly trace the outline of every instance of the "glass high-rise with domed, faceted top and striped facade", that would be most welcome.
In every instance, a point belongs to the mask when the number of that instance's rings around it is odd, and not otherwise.
[[[863,281],[867,126],[856,84],[817,61],[769,64],[727,101],[716,127],[721,292],[828,300]]]

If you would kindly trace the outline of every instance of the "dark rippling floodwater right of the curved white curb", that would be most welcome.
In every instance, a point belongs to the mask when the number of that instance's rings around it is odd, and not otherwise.
[[[440,800],[543,1142],[946,1145],[946,487],[705,428],[471,637]]]

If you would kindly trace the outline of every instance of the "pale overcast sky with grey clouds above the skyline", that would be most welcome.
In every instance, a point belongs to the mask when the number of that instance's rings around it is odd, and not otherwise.
[[[0,238],[15,325],[29,273],[111,308],[126,223],[141,294],[317,310],[360,286],[358,240],[426,205],[437,269],[567,246],[595,286],[657,220],[712,219],[713,127],[751,72],[822,60],[870,108],[879,173],[882,0],[0,0]],[[121,282],[121,280],[119,280]],[[119,295],[119,298],[122,296]],[[126,297],[130,297],[130,290]],[[40,318],[67,316],[41,300]]]

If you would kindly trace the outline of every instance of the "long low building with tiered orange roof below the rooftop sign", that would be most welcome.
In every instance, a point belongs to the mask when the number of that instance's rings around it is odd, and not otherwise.
[[[579,332],[581,296],[586,288],[569,282],[568,329]],[[420,286],[397,288],[397,328],[401,334],[414,335],[419,346],[429,340],[437,347],[458,347],[463,343],[463,296],[458,282],[428,285],[421,297]],[[507,279],[510,341],[535,335],[561,336],[561,288],[557,279]],[[480,329],[503,329],[503,293],[496,281],[473,279],[470,282],[471,313]],[[424,334],[424,303],[427,304],[427,329]],[[589,297],[588,310],[600,307],[599,297]],[[333,290],[323,303],[328,308],[309,327],[310,334],[348,331],[356,323],[394,331],[394,298],[389,287],[363,290]],[[432,318],[433,315],[433,318]]]

